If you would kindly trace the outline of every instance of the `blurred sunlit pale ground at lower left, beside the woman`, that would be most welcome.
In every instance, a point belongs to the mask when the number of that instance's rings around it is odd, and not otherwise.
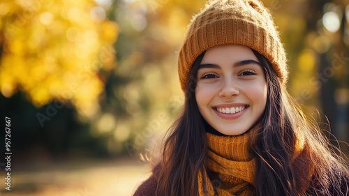
[[[11,190],[1,186],[0,195],[126,196],[151,174],[149,167],[135,158],[70,160],[12,170]]]

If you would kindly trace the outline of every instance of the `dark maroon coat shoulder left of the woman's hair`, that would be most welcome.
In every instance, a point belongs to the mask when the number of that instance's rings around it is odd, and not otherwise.
[[[156,192],[156,187],[158,186],[158,174],[161,170],[161,164],[158,163],[153,169],[151,176],[149,179],[144,181],[135,191],[135,194],[133,196],[153,196]]]

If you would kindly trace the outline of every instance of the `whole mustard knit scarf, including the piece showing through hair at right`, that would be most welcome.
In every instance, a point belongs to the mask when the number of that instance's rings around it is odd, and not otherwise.
[[[259,127],[259,126],[258,126]],[[258,128],[237,136],[218,136],[207,133],[209,146],[208,158],[205,161],[207,169],[198,173],[198,188],[200,196],[230,196],[255,195],[254,177],[256,156],[250,153],[252,142]],[[301,172],[297,179],[297,192],[304,193],[308,187],[313,168],[304,173],[304,167],[309,168],[309,152],[305,151],[304,137],[297,135],[296,151],[292,158],[295,172]],[[302,139],[303,138],[303,139]],[[304,174],[303,174],[304,173]]]

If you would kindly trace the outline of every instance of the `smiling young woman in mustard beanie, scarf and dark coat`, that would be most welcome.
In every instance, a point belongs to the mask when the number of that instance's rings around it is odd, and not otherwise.
[[[285,51],[256,0],[211,1],[178,59],[184,110],[135,196],[349,195],[349,172],[285,88]]]

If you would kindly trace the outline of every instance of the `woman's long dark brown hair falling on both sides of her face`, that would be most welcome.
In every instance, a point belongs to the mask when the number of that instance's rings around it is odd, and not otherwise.
[[[257,156],[255,192],[257,195],[300,195],[299,179],[302,179],[302,185],[308,186],[308,191],[302,195],[329,195],[329,186],[339,193],[340,182],[334,165],[345,173],[348,170],[329,149],[329,142],[322,136],[317,123],[306,119],[297,102],[287,93],[272,64],[265,56],[254,50],[253,53],[264,68],[268,85],[265,112],[258,121],[260,128],[252,148]],[[208,151],[206,133],[212,131],[195,100],[197,73],[204,55],[205,52],[193,63],[184,109],[170,128],[163,146],[157,196],[198,195],[198,172],[205,168]],[[302,135],[308,149],[306,160],[299,160],[300,165],[307,166],[303,170],[292,165],[298,135]],[[304,173],[309,171],[313,171],[313,178],[306,181]]]

